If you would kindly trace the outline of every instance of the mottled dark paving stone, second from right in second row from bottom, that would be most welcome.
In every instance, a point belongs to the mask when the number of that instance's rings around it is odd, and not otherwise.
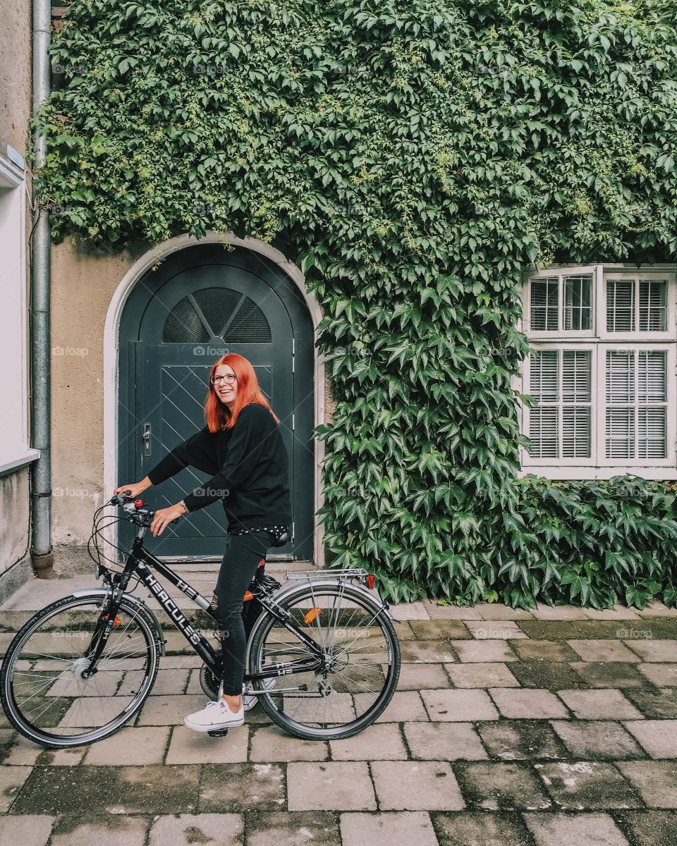
[[[639,808],[641,801],[618,770],[603,761],[535,764],[555,804],[566,810]]]

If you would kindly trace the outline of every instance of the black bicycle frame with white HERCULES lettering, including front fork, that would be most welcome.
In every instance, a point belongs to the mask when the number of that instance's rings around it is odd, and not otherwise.
[[[195,588],[191,587],[186,581],[175,574],[172,569],[169,569],[166,564],[162,563],[162,561],[156,558],[151,552],[148,552],[146,547],[143,546],[142,540],[145,531],[146,528],[142,527],[139,532],[137,532],[131,551],[129,552],[129,558],[127,558],[127,562],[124,565],[124,570],[122,574],[120,574],[117,584],[113,585],[113,606],[110,608],[108,613],[106,629],[104,630],[102,637],[96,640],[96,647],[93,655],[88,656],[91,657],[90,668],[96,665],[96,661],[103,651],[103,646],[106,643],[108,635],[113,629],[115,613],[117,613],[118,609],[115,602],[118,600],[118,597],[122,597],[124,591],[127,589],[129,580],[133,575],[135,575],[155,596],[157,602],[160,603],[165,613],[168,614],[169,619],[172,620],[176,628],[184,635],[184,638],[188,641],[193,650],[195,650],[195,652],[201,657],[202,661],[205,662],[206,666],[212,671],[212,673],[214,673],[214,675],[220,675],[221,667],[219,666],[218,656],[214,651],[212,644],[206,640],[201,632],[193,628],[193,626],[185,618],[184,613],[181,612],[181,609],[176,602],[174,602],[172,597],[168,595],[168,592],[164,590],[160,580],[151,574],[151,569],[156,570],[159,575],[167,579],[168,582],[171,582],[171,584],[174,585],[174,587],[177,587],[184,596],[187,596],[190,600],[195,602],[195,605],[200,607],[206,613],[209,613],[211,603],[205,596],[202,596],[201,593],[195,591]],[[313,667],[320,667],[322,665],[322,649],[316,644],[316,642],[305,634],[304,631],[297,628],[292,622],[289,613],[287,613],[283,608],[278,607],[278,603],[272,598],[262,595],[261,593],[256,594],[256,598],[259,602],[261,602],[261,606],[264,607],[267,612],[271,613],[278,622],[283,624],[285,629],[288,629],[290,632],[295,634],[295,636],[298,637],[299,640],[301,640],[301,642],[304,643],[316,657],[314,659],[310,657],[301,658],[297,661],[288,662],[286,664],[271,664],[267,666],[265,671],[262,673],[245,673],[245,681],[277,678],[278,676],[293,673],[307,673],[308,670]],[[214,620],[214,622],[217,623],[216,620]],[[94,639],[92,642],[94,642]]]

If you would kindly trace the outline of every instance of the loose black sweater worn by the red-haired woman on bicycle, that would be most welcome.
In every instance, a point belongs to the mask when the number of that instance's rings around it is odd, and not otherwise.
[[[159,485],[189,464],[212,473],[184,497],[189,511],[221,499],[229,529],[291,523],[287,450],[278,424],[260,403],[245,405],[232,429],[211,432],[205,426],[195,432],[156,464],[148,478]]]

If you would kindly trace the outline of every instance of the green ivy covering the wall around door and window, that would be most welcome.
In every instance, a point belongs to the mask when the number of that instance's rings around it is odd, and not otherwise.
[[[396,600],[675,600],[671,486],[520,479],[520,269],[674,261],[677,33],[637,0],[74,0],[57,239],[270,241],[326,315],[325,541]],[[92,286],[96,282],[92,282]]]

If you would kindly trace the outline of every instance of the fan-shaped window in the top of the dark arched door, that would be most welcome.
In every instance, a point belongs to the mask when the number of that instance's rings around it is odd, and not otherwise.
[[[163,343],[272,343],[270,325],[245,294],[230,288],[202,288],[174,305],[162,329]]]

